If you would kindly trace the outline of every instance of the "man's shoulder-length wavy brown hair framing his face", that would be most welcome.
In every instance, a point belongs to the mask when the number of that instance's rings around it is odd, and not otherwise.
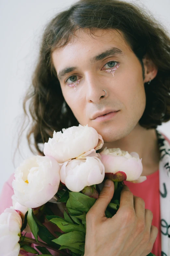
[[[170,38],[165,28],[149,10],[135,4],[118,0],[80,0],[53,17],[44,28],[32,83],[23,101],[24,118],[29,113],[32,117],[27,141],[34,154],[38,152],[44,156],[39,145],[48,142],[54,130],[78,126],[77,119],[64,100],[51,59],[52,52],[65,46],[77,29],[89,29],[91,34],[97,29],[120,30],[142,68],[142,58],[148,54],[158,67],[158,73],[150,84],[144,84],[146,108],[139,124],[150,129],[170,120]],[[28,111],[26,103],[29,104]],[[18,145],[27,127],[23,129],[25,119]]]

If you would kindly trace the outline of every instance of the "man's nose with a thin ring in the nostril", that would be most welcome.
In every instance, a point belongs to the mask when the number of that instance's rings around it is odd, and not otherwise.
[[[88,76],[86,78],[86,101],[98,103],[103,98],[106,98],[108,90],[105,87],[99,79]]]

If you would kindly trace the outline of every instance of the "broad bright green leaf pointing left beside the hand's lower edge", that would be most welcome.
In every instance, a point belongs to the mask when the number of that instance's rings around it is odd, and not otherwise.
[[[72,232],[63,234],[52,241],[58,245],[72,247],[72,244],[74,244],[74,243],[85,242],[85,236],[86,236],[86,234],[84,232],[72,231]]]

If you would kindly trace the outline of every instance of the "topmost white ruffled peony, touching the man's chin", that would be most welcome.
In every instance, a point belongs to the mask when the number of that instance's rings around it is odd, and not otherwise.
[[[44,144],[44,155],[54,157],[58,163],[82,158],[100,149],[104,141],[97,131],[86,126],[73,126],[53,133],[53,138]]]

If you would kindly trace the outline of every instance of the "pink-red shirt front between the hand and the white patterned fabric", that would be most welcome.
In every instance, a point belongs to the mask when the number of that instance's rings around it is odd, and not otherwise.
[[[161,256],[161,225],[160,225],[160,193],[159,170],[147,176],[141,183],[124,181],[134,196],[139,196],[145,201],[145,209],[153,213],[152,225],[158,228],[158,235],[152,248],[152,253]]]

